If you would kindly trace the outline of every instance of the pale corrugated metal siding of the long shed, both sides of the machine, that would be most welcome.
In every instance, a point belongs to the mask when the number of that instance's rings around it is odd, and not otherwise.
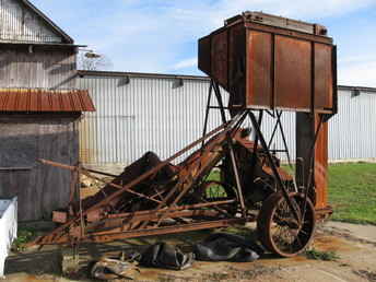
[[[168,78],[131,77],[125,85],[119,75],[78,80],[80,89],[90,91],[97,109],[81,122],[81,156],[86,164],[129,164],[146,151],[166,158],[202,134],[208,80],[185,79],[178,89],[173,89],[174,79]],[[339,92],[339,114],[330,120],[331,161],[376,157],[376,127],[369,124],[375,106],[376,94],[351,98],[351,91]],[[210,129],[221,124],[218,110],[211,110],[209,121]],[[261,129],[267,140],[274,122],[265,114]],[[283,113],[282,125],[294,158],[295,114]],[[280,133],[271,148],[283,149]],[[285,154],[279,155],[286,160]]]

